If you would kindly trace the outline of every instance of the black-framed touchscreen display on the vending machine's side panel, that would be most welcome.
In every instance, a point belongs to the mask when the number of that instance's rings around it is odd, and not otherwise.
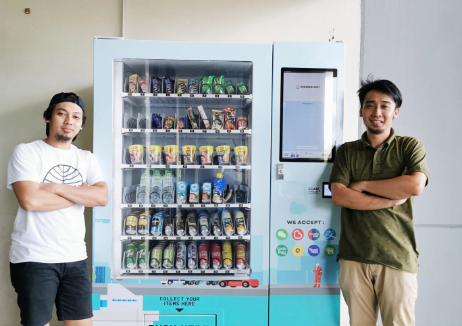
[[[336,69],[281,69],[281,161],[333,161],[336,86]]]

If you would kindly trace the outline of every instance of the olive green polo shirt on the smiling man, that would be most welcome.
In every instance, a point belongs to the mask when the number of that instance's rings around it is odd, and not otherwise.
[[[422,172],[430,177],[425,148],[417,138],[390,137],[377,149],[361,139],[339,147],[329,185],[348,186],[357,181],[385,180]],[[414,197],[404,204],[379,210],[360,211],[342,207],[341,232],[337,259],[382,264],[398,270],[419,271],[419,249],[414,234]]]

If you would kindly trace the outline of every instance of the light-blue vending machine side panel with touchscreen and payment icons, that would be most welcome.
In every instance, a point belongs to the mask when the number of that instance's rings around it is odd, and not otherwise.
[[[327,182],[342,143],[345,45],[273,47],[270,325],[340,324],[340,210]]]

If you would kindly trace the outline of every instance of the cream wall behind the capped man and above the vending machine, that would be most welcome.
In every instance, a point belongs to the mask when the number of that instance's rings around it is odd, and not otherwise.
[[[31,8],[30,15],[24,14]],[[126,0],[125,39],[252,42],[344,40],[346,141],[357,138],[360,0]],[[8,250],[17,202],[6,185],[15,145],[45,138],[41,119],[52,95],[75,91],[87,107],[78,147],[92,148],[93,36],[121,36],[122,1],[0,0],[0,319],[19,325],[9,281]],[[86,212],[91,254],[91,211]],[[60,325],[53,317],[52,325]]]

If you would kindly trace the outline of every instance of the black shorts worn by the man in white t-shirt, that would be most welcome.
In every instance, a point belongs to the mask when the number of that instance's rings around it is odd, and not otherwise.
[[[18,294],[21,324],[43,326],[51,320],[53,302],[59,320],[93,317],[87,259],[72,263],[10,263]]]

